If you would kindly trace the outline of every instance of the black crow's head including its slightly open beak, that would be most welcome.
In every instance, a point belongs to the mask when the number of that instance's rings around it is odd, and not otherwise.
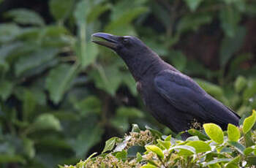
[[[103,45],[109,47],[110,49],[116,51],[122,58],[130,58],[138,56],[140,53],[146,53],[150,50],[146,45],[140,41],[137,37],[132,36],[115,36],[106,33],[96,33],[92,34],[92,42],[98,45]],[[96,38],[104,39],[97,40]]]

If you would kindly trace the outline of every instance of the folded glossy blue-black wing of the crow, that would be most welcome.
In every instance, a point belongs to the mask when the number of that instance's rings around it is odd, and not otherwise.
[[[194,80],[165,70],[154,78],[157,92],[181,112],[187,112],[205,122],[238,125],[239,116],[200,88]]]

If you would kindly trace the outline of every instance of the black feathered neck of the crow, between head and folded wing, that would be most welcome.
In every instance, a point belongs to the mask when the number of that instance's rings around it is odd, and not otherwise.
[[[127,64],[129,71],[136,81],[150,72],[151,74],[158,73],[165,64],[159,56],[154,52],[136,54],[136,56],[122,57]]]

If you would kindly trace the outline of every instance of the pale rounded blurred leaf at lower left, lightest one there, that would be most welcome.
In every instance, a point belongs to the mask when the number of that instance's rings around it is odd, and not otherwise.
[[[59,119],[54,117],[54,115],[47,113],[39,115],[35,119],[33,126],[36,130],[52,129],[55,131],[61,131],[61,123],[59,122]]]

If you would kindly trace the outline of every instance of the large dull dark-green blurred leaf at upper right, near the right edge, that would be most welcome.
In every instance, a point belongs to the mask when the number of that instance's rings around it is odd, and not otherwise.
[[[220,48],[220,65],[224,67],[234,53],[238,52],[244,44],[246,29],[238,27],[232,37],[226,36],[222,39]]]

